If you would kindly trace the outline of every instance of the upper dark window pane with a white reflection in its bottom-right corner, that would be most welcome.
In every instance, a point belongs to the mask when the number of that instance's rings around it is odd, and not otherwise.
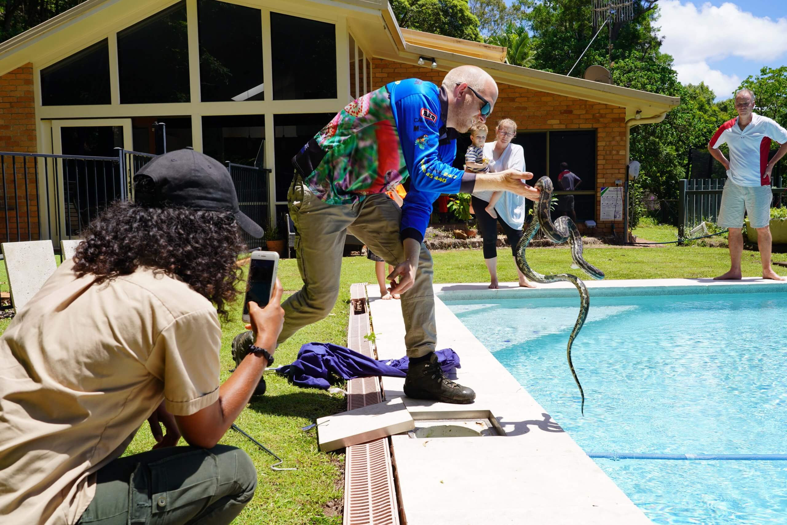
[[[200,0],[198,13],[202,101],[264,100],[260,9]]]

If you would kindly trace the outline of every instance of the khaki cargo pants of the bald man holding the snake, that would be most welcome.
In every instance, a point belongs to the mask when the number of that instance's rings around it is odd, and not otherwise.
[[[324,319],[336,303],[347,232],[355,235],[386,263],[405,260],[399,237],[401,209],[386,194],[368,195],[355,204],[331,205],[321,201],[296,175],[287,193],[295,224],[295,253],[303,287],[284,301],[284,327],[279,344],[301,327]],[[421,243],[416,282],[401,294],[408,357],[434,352],[434,292],[432,257]],[[374,275],[373,268],[369,274]]]

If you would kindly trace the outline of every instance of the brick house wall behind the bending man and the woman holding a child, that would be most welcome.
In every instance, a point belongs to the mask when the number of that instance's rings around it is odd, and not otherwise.
[[[372,62],[372,87],[382,87],[394,80],[417,77],[442,83],[445,71],[375,58]],[[614,187],[615,180],[626,175],[626,109],[597,104],[579,98],[535,91],[527,87],[498,83],[500,94],[495,104],[493,121],[511,118],[519,131],[531,130],[596,130],[596,217],[595,235],[611,235],[612,221],[601,221],[600,187]],[[527,123],[526,125],[523,123]],[[538,176],[545,174],[534,174]],[[585,225],[578,224],[584,232]],[[623,222],[617,221],[615,231],[623,235]]]

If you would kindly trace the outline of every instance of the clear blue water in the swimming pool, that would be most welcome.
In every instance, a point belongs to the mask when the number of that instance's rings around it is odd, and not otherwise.
[[[787,453],[787,294],[445,301],[586,452]],[[654,523],[787,523],[787,461],[596,460]]]

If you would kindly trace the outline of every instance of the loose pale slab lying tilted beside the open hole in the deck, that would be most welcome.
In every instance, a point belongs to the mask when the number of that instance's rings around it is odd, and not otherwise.
[[[317,442],[320,450],[330,452],[411,431],[415,427],[416,423],[401,397],[393,397],[375,405],[320,417],[317,420]]]

